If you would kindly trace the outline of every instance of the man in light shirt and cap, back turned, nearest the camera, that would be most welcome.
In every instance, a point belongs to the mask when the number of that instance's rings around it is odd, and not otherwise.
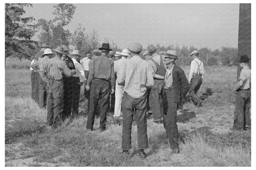
[[[142,158],[146,157],[144,149],[148,148],[148,135],[146,133],[146,88],[154,85],[152,69],[147,61],[142,60],[139,54],[142,45],[135,42],[129,45],[131,58],[126,59],[121,74],[118,76],[118,85],[124,85],[122,97],[122,150],[129,154],[131,148],[131,131],[135,110],[137,122],[138,149]]]

